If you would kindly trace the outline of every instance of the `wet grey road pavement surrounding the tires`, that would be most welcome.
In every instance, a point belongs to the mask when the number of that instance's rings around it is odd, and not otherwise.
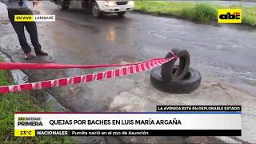
[[[5,6],[0,4],[0,50],[14,62],[138,62],[162,58],[169,50],[179,48],[190,52],[191,66],[202,74],[202,86],[191,94],[156,90],[150,85],[150,71],[50,89],[67,110],[155,111],[156,105],[242,105],[242,137],[98,137],[81,138],[82,142],[256,142],[256,29],[143,14],[95,19],[84,10],[59,11],[50,2],[41,2],[34,12],[56,15],[56,22],[38,22],[40,42],[50,56],[25,61]],[[104,69],[24,72],[37,82],[101,70]]]

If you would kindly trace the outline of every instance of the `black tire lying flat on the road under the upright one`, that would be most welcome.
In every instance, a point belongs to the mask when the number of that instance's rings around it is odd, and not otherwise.
[[[177,70],[177,66],[174,66],[174,71],[175,70]],[[190,68],[189,72],[182,80],[170,81],[169,79],[162,78],[161,66],[158,66],[151,71],[150,82],[159,90],[174,94],[189,94],[200,86],[201,74],[198,70]]]

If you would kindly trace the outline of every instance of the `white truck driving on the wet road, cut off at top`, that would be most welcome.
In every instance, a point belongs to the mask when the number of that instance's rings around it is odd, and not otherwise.
[[[126,11],[134,10],[134,1],[129,0],[50,0],[58,5],[59,10],[69,8],[90,9],[95,18],[103,13],[116,13],[120,17]]]

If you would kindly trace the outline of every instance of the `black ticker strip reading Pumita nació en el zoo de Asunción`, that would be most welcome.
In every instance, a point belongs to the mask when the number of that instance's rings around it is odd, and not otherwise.
[[[70,130],[70,136],[241,136],[242,130]]]

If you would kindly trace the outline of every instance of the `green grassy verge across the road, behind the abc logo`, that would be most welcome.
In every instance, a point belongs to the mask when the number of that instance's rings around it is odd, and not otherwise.
[[[170,15],[199,22],[217,22],[219,8],[241,8],[242,23],[256,26],[256,6],[218,6],[210,2],[135,1],[135,10],[142,13]]]

